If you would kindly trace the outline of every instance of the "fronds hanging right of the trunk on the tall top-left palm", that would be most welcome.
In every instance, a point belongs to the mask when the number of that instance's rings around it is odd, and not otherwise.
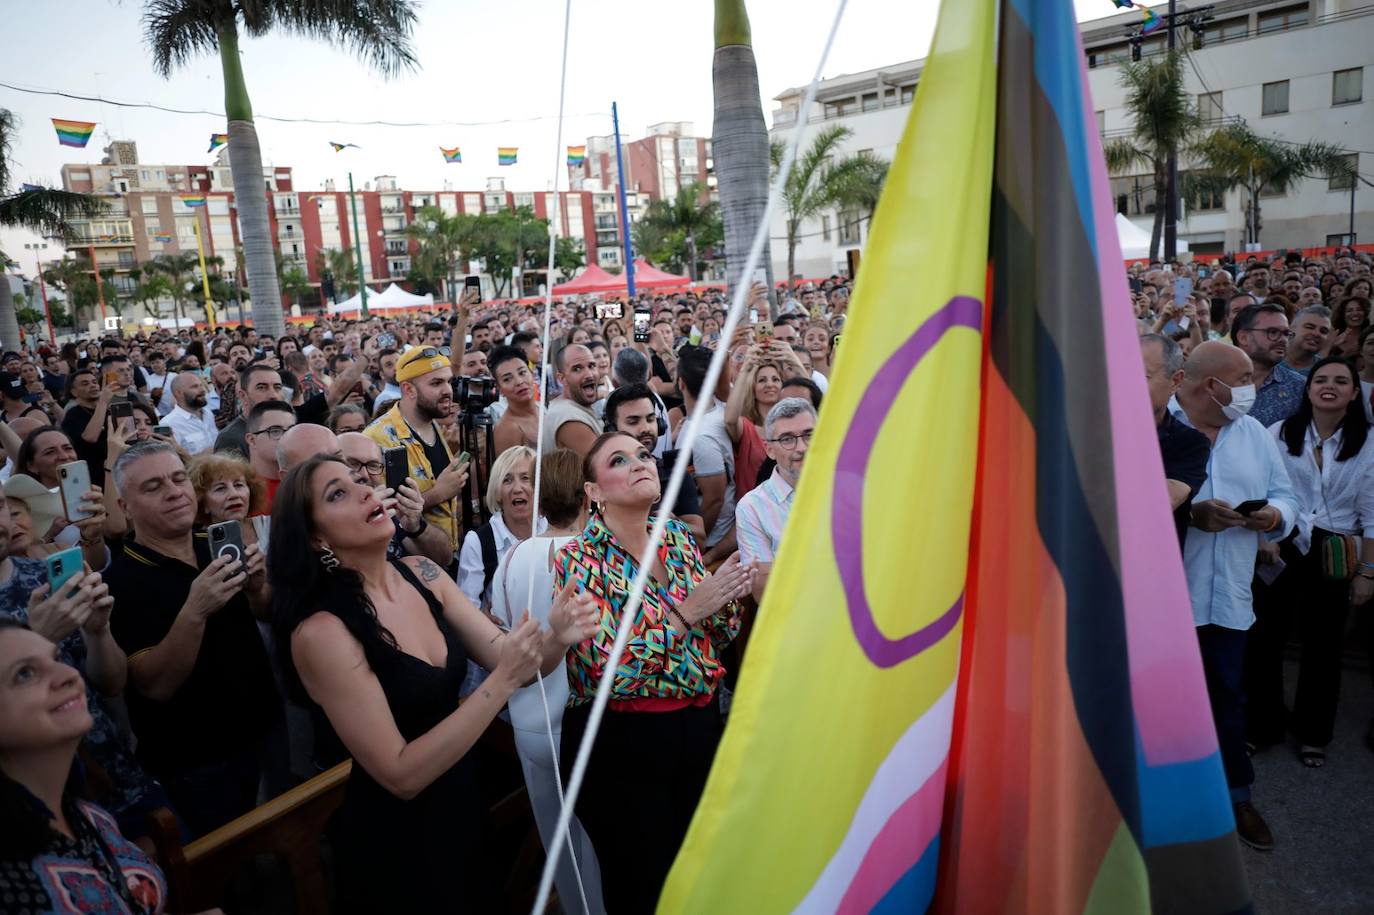
[[[415,70],[414,0],[239,0],[243,29],[260,37],[282,29],[352,51],[386,77]]]

